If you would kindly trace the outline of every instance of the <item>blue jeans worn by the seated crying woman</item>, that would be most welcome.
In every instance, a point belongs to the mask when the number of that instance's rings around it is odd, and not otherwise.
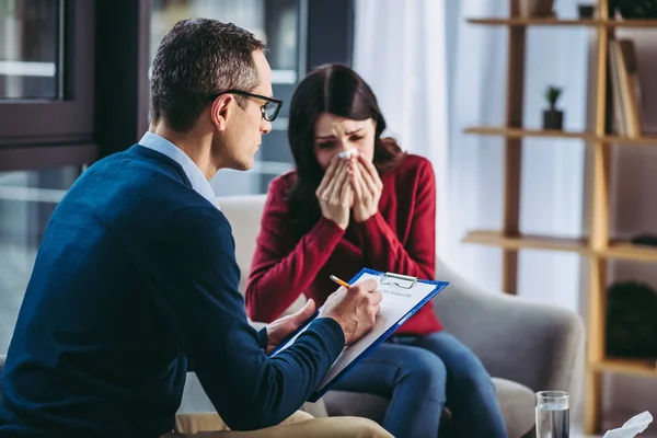
[[[437,437],[448,407],[454,437],[506,437],[491,377],[454,336],[393,336],[334,387],[390,399],[383,427],[396,438]]]

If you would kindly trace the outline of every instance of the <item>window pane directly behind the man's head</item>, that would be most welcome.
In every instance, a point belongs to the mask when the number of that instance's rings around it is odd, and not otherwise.
[[[267,43],[274,95],[285,101],[281,112],[273,132],[263,137],[252,170],[221,170],[210,181],[218,196],[266,193],[272,178],[292,169],[286,129],[289,96],[299,71],[299,0],[151,0],[151,65],[164,34],[186,18],[234,23]]]

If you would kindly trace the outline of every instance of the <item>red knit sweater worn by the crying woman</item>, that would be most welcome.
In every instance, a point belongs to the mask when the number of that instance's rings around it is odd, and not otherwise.
[[[278,318],[306,293],[321,306],[337,286],[361,267],[431,279],[436,265],[436,180],[426,159],[406,154],[381,175],[379,212],[342,230],[324,217],[297,238],[286,201],[296,174],[274,180],[257,237],[246,286],[246,308],[254,321]],[[424,306],[396,333],[428,334],[442,330],[433,303]]]

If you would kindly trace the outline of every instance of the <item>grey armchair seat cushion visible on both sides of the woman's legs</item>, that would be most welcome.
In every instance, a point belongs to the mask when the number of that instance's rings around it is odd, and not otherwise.
[[[518,438],[534,425],[534,393],[529,388],[506,379],[493,378],[497,400],[506,422],[508,436]],[[353,415],[382,424],[388,400],[378,395],[328,391],[322,400],[330,416]]]

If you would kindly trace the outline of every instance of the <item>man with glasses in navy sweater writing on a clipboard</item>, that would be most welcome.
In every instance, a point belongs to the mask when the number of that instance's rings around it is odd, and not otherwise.
[[[149,131],[89,168],[50,218],[2,374],[0,436],[185,436],[172,430],[187,360],[226,425],[247,430],[204,437],[390,436],[362,418],[292,415],[373,326],[374,281],[334,293],[274,358],[314,303],[260,333],[246,320],[209,180],[251,169],[280,110],[264,49],[215,20],[164,36]]]

